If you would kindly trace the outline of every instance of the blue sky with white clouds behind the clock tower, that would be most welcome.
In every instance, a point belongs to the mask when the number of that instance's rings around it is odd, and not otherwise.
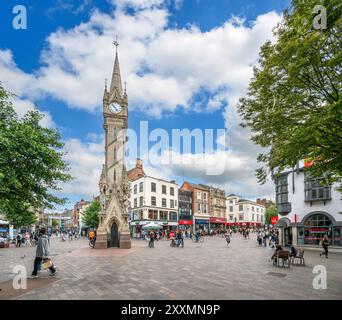
[[[285,0],[20,1],[27,30],[12,27],[15,0],[0,3],[0,81],[15,92],[18,113],[34,105],[45,125],[61,130],[75,181],[63,186],[69,207],[97,193],[103,163],[102,93],[119,36],[127,81],[129,127],[227,130],[227,170],[208,176],[205,163],[161,168],[150,175],[220,186],[245,197],[273,197],[254,177],[260,149],[239,127],[236,104],[247,88],[258,49],[289,5]],[[194,150],[192,150],[194,151]],[[216,160],[215,160],[216,159]],[[222,160],[223,159],[223,160]],[[59,208],[61,209],[61,208]]]

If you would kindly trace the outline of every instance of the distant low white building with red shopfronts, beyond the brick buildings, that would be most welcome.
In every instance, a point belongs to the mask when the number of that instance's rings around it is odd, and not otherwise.
[[[235,194],[226,198],[226,225],[229,227],[260,227],[265,224],[266,208]]]

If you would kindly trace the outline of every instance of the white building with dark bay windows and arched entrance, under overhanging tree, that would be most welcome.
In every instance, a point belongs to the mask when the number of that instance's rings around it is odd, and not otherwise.
[[[323,181],[323,180],[321,180]],[[337,184],[310,179],[304,161],[275,179],[277,227],[283,245],[319,245],[324,234],[342,246],[342,200]]]

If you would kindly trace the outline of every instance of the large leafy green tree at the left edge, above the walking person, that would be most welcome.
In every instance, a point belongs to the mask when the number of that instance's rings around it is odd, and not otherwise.
[[[15,227],[35,221],[35,208],[54,208],[66,199],[53,195],[71,179],[57,130],[40,125],[42,114],[19,118],[0,83],[0,212]]]

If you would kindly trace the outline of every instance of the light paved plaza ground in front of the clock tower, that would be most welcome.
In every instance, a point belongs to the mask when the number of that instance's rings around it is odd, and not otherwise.
[[[0,299],[13,266],[25,265],[31,274],[34,254],[31,247],[0,250]],[[26,291],[12,290],[6,299],[342,299],[342,254],[325,259],[306,250],[306,266],[277,268],[269,261],[272,250],[258,247],[255,235],[233,235],[228,248],[223,238],[206,237],[201,244],[186,240],[184,248],[171,248],[167,240],[148,248],[147,241],[132,240],[130,250],[96,250],[87,240],[53,237],[51,254],[55,278],[42,271]],[[326,267],[326,290],[313,289],[315,265]]]

